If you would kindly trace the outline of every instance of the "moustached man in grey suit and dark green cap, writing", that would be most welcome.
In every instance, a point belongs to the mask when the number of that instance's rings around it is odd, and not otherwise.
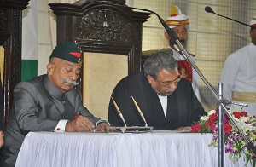
[[[50,55],[47,75],[18,83],[4,135],[0,166],[15,166],[22,141],[30,131],[105,131],[108,121],[95,118],[74,87],[82,53],[74,43],[60,43]]]

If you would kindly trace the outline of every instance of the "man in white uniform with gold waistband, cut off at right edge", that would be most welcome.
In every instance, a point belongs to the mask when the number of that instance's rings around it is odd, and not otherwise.
[[[250,22],[252,43],[236,50],[224,62],[220,82],[224,99],[248,104],[242,110],[256,115],[256,15]],[[230,105],[241,110],[240,106]]]

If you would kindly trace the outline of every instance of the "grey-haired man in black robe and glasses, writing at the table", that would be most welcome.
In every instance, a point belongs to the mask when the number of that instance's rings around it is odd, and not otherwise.
[[[131,96],[154,130],[187,130],[207,112],[198,101],[191,83],[179,76],[177,60],[172,54],[157,52],[144,63],[142,72],[123,78],[113,89],[112,97],[127,126],[144,126]],[[119,112],[110,100],[108,121],[124,126]]]

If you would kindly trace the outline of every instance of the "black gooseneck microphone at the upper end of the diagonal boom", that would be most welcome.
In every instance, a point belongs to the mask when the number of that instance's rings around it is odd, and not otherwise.
[[[99,2],[99,0],[90,0],[91,3],[102,3],[102,2]],[[103,3],[102,3],[103,4]],[[158,19],[160,20],[160,23],[162,24],[162,26],[164,26],[164,28],[166,29],[166,32],[168,33],[168,35],[171,37],[170,39],[170,42],[172,43],[172,45],[174,46],[175,49],[177,49],[177,52],[180,54],[180,55],[183,55],[182,54],[182,51],[179,49],[179,47],[177,46],[177,42],[179,42],[179,38],[177,37],[177,34],[173,31],[172,28],[170,28],[169,26],[167,26],[166,24],[166,21],[163,20],[159,14],[155,13],[154,11],[152,10],[148,10],[148,9],[139,9],[139,8],[134,8],[134,7],[130,7],[130,6],[125,6],[125,5],[121,5],[121,4],[116,4],[116,3],[112,3],[112,2],[108,2],[108,3],[105,3],[105,4],[111,4],[113,6],[120,6],[120,7],[125,7],[125,8],[128,8],[128,9],[137,9],[137,10],[142,10],[142,11],[146,11],[146,12],[149,12],[150,14],[155,14]]]

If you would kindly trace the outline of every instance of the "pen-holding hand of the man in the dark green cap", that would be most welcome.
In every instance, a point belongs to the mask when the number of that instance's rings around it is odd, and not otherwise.
[[[89,118],[85,118],[81,115],[73,119],[72,121],[67,121],[65,131],[74,132],[74,131],[91,131],[95,128],[94,124],[90,121]]]

